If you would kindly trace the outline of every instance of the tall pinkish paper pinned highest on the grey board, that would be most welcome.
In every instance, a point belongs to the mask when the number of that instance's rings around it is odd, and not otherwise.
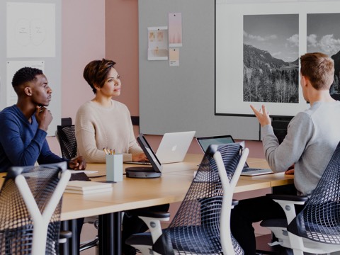
[[[182,13],[169,13],[169,47],[182,47]]]

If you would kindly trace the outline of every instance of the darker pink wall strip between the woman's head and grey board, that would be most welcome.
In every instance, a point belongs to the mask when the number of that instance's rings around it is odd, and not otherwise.
[[[115,61],[122,91],[115,98],[139,115],[138,1],[106,1],[106,57]]]

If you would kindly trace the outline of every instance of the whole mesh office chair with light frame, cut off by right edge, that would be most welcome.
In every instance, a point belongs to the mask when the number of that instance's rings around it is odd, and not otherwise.
[[[271,195],[281,205],[287,219],[263,220],[281,246],[303,252],[326,254],[340,251],[340,143],[310,199],[299,196]],[[295,217],[294,204],[304,204]]]

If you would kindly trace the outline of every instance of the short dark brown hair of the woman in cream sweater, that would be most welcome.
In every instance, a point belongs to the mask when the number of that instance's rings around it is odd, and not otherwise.
[[[111,68],[115,65],[112,60],[94,60],[86,64],[84,68],[83,77],[87,83],[91,86],[92,91],[96,94],[96,87],[102,88],[105,84],[106,78],[111,71]]]

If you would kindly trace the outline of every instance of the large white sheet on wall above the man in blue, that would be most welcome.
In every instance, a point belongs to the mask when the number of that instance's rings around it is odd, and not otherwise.
[[[7,57],[55,57],[55,4],[7,3]]]

